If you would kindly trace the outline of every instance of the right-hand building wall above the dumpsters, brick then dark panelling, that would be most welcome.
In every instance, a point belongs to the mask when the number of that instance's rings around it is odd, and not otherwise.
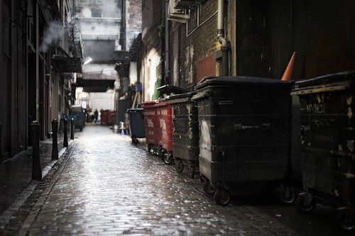
[[[348,0],[144,1],[144,99],[156,99],[157,83],[192,90],[210,76],[280,79],[293,52],[294,79],[354,70],[353,6]]]

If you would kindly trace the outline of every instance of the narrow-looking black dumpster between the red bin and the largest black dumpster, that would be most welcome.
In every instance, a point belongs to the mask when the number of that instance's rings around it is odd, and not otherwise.
[[[175,169],[184,170],[194,178],[198,172],[199,126],[197,103],[192,101],[195,92],[170,96],[167,101],[173,109],[173,157]]]

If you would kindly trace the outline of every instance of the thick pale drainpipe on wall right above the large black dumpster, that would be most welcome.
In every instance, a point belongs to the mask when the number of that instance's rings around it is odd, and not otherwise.
[[[224,0],[218,0],[218,29],[217,38],[222,45],[222,76],[229,75],[229,43],[224,38]]]

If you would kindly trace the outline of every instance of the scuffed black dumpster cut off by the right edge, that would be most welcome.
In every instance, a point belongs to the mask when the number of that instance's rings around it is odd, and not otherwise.
[[[342,227],[355,227],[355,72],[329,74],[295,83],[300,98],[302,176],[305,192],[298,210],[315,200],[338,208]]]

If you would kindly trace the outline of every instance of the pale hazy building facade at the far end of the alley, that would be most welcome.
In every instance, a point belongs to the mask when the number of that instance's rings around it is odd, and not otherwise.
[[[83,65],[75,86],[82,87],[84,93],[114,90],[114,124],[117,124],[123,119],[126,108],[131,106],[130,84],[137,80],[136,75],[131,78],[129,74],[128,51],[141,32],[141,1],[78,0],[75,1],[75,16],[81,28],[83,57],[92,59]],[[103,108],[93,107],[94,104],[97,102],[88,104],[92,111]]]

